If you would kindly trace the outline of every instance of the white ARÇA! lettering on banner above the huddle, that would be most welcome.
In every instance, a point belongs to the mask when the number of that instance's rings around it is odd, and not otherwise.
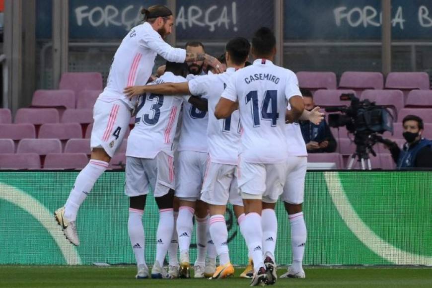
[[[222,6],[219,13],[218,9],[219,7],[217,5],[210,6],[207,9],[196,5],[187,8],[185,6],[180,6],[175,19],[175,25],[183,29],[192,28],[194,26],[208,27],[209,31],[213,32],[216,30],[216,26],[223,26],[226,30],[229,30],[230,23],[232,23],[232,30],[235,32],[238,31],[236,27],[237,3],[235,1],[231,3],[231,18],[228,17],[228,6]]]

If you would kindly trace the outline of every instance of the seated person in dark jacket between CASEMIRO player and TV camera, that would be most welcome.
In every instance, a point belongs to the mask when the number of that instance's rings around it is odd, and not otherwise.
[[[315,107],[312,93],[305,89],[300,89],[300,91],[303,95],[304,109],[312,110]],[[300,121],[299,123],[308,153],[331,153],[336,151],[336,140],[325,119],[318,125],[310,121]]]

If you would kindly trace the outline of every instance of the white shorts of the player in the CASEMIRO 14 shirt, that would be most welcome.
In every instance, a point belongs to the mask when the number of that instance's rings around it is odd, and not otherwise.
[[[237,175],[242,198],[276,203],[287,178],[287,162],[249,163],[240,159]]]

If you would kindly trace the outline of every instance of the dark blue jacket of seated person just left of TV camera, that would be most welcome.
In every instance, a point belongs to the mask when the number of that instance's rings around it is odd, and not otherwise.
[[[300,121],[301,134],[303,135],[304,143],[308,144],[311,141],[321,143],[328,141],[329,145],[324,149],[316,149],[308,151],[309,153],[322,153],[322,152],[334,152],[336,151],[336,140],[330,131],[329,126],[325,120],[321,121],[320,124],[315,125],[310,121]]]

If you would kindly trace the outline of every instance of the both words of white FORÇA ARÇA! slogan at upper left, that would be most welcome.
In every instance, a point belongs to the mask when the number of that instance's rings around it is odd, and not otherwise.
[[[76,24],[82,26],[86,23],[93,27],[110,25],[124,27],[126,31],[138,25],[142,20],[140,7],[137,9],[134,5],[129,5],[121,10],[113,5],[105,7],[89,7],[87,5],[79,6],[74,9]],[[231,17],[228,17],[228,9],[231,8]],[[210,32],[216,30],[216,27],[224,27],[226,30],[232,28],[238,31],[237,25],[237,3],[233,1],[231,6],[213,5],[207,9],[196,5],[189,7],[181,6],[175,21],[176,26],[183,29],[194,26],[208,27]]]

